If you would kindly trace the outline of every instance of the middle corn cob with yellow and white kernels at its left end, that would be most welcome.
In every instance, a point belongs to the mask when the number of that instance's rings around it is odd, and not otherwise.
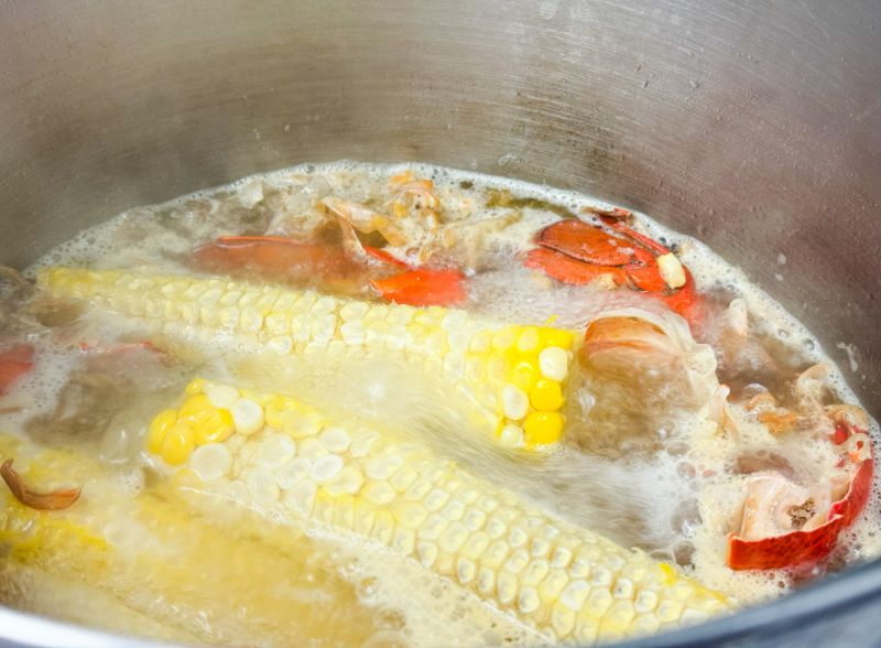
[[[231,433],[218,411],[232,412]],[[198,441],[215,436],[222,441]],[[282,525],[372,540],[555,640],[649,634],[729,606],[673,566],[555,519],[414,441],[285,396],[196,379],[156,415],[146,443],[188,489]]]

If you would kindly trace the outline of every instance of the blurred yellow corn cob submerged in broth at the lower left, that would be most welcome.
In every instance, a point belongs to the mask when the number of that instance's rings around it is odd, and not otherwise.
[[[121,494],[117,478],[79,453],[0,436],[0,455],[14,456],[31,484],[45,487],[58,478],[85,484],[70,508],[40,511],[0,483],[4,570],[39,570],[99,586],[121,605],[185,633],[191,642],[291,646],[317,636],[359,645],[378,629],[354,587],[331,575],[338,565],[328,560],[333,566],[326,573],[313,566],[320,565],[320,548],[302,533],[265,525],[258,533],[247,515],[208,523],[181,505],[171,484]],[[268,587],[280,573],[300,577],[294,586]],[[53,614],[58,613],[64,611]]]

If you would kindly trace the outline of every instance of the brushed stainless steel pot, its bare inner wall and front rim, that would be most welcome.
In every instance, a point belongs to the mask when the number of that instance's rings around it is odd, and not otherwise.
[[[701,238],[881,412],[877,1],[13,0],[0,17],[3,263],[249,173],[426,160]],[[873,646],[880,600],[872,564],[649,644]],[[0,637],[120,645],[2,609]]]

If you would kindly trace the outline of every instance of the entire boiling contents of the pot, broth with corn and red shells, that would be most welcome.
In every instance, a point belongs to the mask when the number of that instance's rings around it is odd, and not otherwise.
[[[590,642],[879,553],[877,429],[814,336],[591,196],[304,165],[0,282],[10,607],[189,644]]]

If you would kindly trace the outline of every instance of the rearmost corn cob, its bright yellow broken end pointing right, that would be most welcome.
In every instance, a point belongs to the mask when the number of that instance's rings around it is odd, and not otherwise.
[[[470,397],[505,445],[544,446],[563,433],[572,331],[228,279],[54,268],[39,282],[53,296],[87,299],[191,341],[224,333],[282,354],[400,354]]]

